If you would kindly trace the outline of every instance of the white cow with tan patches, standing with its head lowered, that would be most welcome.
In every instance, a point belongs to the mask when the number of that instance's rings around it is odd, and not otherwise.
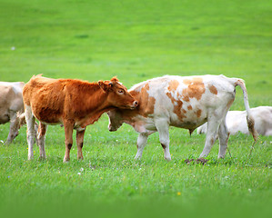
[[[108,112],[108,129],[116,131],[123,123],[134,127],[139,133],[136,159],[141,158],[148,135],[157,131],[165,159],[170,161],[169,125],[186,128],[192,133],[207,122],[207,139],[200,157],[209,154],[218,132],[218,158],[224,158],[228,140],[226,114],[235,100],[237,85],[243,90],[248,128],[256,140],[246,86],[243,80],[224,75],[166,75],[136,84],[129,93],[138,101],[138,107],[136,110],[115,109]]]

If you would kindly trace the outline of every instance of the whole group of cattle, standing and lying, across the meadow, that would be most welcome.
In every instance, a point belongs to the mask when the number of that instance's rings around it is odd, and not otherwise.
[[[246,111],[229,111],[236,86],[244,95]],[[21,125],[27,126],[28,160],[33,145],[45,158],[47,124],[65,128],[65,157],[70,160],[73,130],[76,130],[77,158],[83,159],[86,126],[107,113],[109,131],[126,123],[139,134],[136,159],[141,158],[150,134],[158,132],[165,159],[169,152],[169,126],[186,128],[192,134],[207,134],[200,157],[206,157],[219,138],[218,158],[224,158],[229,134],[272,135],[272,107],[249,108],[247,89],[242,79],[224,75],[166,75],[134,85],[129,91],[116,77],[89,83],[75,79],[51,79],[41,75],[23,82],[0,82],[0,124],[10,122],[5,144],[10,144]],[[39,121],[35,128],[35,119]]]

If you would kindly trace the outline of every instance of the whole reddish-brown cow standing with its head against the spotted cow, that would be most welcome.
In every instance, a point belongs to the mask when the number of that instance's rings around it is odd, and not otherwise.
[[[40,121],[37,144],[40,158],[45,158],[45,132],[47,124],[65,127],[65,158],[70,160],[73,129],[76,129],[77,158],[83,159],[82,147],[86,126],[94,124],[101,114],[113,108],[134,109],[137,102],[119,83],[110,81],[88,83],[73,79],[51,79],[33,76],[23,90],[27,125],[28,159],[33,158],[35,118]]]

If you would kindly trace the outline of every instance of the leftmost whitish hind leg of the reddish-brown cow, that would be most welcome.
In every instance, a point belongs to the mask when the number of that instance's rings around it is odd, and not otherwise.
[[[35,117],[30,106],[25,105],[25,122],[27,126],[28,160],[33,159],[33,144],[35,144]]]

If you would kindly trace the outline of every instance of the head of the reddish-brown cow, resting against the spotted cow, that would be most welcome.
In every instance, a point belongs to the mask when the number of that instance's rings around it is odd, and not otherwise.
[[[136,99],[127,92],[126,86],[121,84],[116,77],[110,81],[99,81],[98,84],[107,93],[107,102],[111,106],[121,109],[135,109],[138,105]]]

